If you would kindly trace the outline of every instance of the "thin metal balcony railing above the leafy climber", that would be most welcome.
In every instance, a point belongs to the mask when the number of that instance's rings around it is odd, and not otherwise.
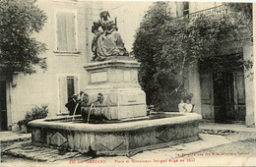
[[[199,17],[201,15],[205,15],[205,16],[213,15],[213,16],[215,16],[215,15],[225,14],[225,13],[227,13],[226,6],[220,5],[220,6],[217,6],[217,7],[214,7],[214,8],[209,8],[209,9],[202,10],[202,11],[197,11],[197,12],[194,12],[194,13],[191,13],[191,14],[188,14],[188,15],[180,16],[180,17],[174,18],[174,20],[184,18],[184,17],[194,18],[194,17]]]

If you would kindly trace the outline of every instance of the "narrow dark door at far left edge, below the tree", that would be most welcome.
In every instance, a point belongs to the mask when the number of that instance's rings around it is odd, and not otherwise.
[[[7,131],[6,81],[0,81],[0,131]]]

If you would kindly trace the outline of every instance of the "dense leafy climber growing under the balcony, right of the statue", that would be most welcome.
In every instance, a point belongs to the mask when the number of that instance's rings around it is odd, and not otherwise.
[[[241,33],[247,24],[242,12],[171,18],[166,6],[167,2],[153,4],[133,44],[134,55],[142,63],[139,78],[147,102],[159,110],[176,108],[179,98],[191,95],[184,81],[198,61],[213,63],[206,57],[219,55],[222,45],[247,35]],[[242,60],[235,61],[240,65]],[[214,70],[229,68],[218,57],[214,63]]]

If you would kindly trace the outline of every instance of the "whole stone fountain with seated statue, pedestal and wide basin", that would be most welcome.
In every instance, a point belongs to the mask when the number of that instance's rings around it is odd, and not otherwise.
[[[80,152],[94,150],[97,155],[130,156],[199,139],[199,114],[147,115],[146,95],[138,83],[140,64],[127,56],[116,24],[108,21],[108,16],[108,12],[100,13],[102,20],[93,26],[95,56],[85,67],[89,83],[81,102],[82,115],[30,122],[32,144]],[[99,26],[103,31],[98,30]],[[109,41],[104,43],[103,39]],[[113,49],[104,50],[102,45]]]

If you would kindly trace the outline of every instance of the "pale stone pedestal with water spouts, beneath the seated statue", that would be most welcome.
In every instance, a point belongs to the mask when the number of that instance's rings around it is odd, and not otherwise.
[[[139,67],[133,58],[122,56],[86,66],[89,83],[84,91],[89,102],[82,110],[88,111],[101,93],[103,100],[94,103],[94,114],[102,114],[108,120],[146,116],[146,94],[138,83]]]

